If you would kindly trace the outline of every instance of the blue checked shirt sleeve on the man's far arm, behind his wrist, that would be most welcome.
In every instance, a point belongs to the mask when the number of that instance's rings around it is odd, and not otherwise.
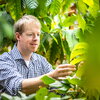
[[[41,57],[41,63],[42,63],[44,74],[49,73],[54,70],[52,65],[47,61],[46,58]]]

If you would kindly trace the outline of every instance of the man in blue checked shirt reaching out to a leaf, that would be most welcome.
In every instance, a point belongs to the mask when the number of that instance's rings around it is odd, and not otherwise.
[[[40,42],[41,25],[31,15],[25,15],[15,25],[16,44],[14,48],[0,56],[1,91],[10,95],[18,95],[18,91],[31,94],[45,86],[41,77],[47,75],[58,79],[70,75],[74,65],[59,65],[55,70],[47,60],[34,53]]]

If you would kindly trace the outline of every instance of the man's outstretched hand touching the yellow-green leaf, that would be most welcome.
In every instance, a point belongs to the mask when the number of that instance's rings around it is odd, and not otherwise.
[[[71,75],[73,71],[75,71],[75,65],[70,64],[61,64],[57,66],[57,68],[50,72],[49,76],[52,78],[58,79],[59,77],[65,77]]]

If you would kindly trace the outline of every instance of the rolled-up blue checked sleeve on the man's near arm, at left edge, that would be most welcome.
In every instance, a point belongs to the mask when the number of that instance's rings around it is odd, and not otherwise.
[[[17,95],[21,90],[23,77],[12,62],[0,61],[0,85],[10,95]]]

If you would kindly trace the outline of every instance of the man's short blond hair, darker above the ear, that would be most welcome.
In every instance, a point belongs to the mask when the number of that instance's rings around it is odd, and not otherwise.
[[[24,15],[14,24],[15,33],[19,32],[20,34],[22,34],[25,30],[25,25],[31,22],[34,24],[39,24],[39,27],[41,28],[40,21],[35,16]]]

